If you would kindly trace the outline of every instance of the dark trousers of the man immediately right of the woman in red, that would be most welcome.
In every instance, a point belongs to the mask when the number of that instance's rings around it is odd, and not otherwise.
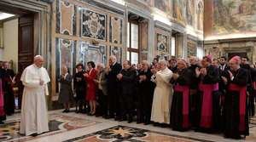
[[[100,116],[107,116],[108,115],[108,96],[103,94],[101,89],[98,89],[98,103],[99,106],[97,107],[96,114]]]

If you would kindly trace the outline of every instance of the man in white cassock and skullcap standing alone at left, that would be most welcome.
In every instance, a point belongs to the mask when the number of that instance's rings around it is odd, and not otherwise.
[[[43,64],[43,57],[35,56],[34,64],[27,66],[20,77],[24,85],[20,120],[21,134],[36,136],[49,131],[45,95],[48,95],[47,83],[50,80]]]

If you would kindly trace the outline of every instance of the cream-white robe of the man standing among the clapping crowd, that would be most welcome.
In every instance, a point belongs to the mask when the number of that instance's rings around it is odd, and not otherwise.
[[[170,107],[172,103],[172,71],[167,67],[155,74],[156,87],[151,111],[151,121],[170,123]]]

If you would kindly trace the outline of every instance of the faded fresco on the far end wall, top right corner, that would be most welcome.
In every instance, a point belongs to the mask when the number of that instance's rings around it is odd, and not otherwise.
[[[213,34],[256,31],[256,0],[213,0]]]

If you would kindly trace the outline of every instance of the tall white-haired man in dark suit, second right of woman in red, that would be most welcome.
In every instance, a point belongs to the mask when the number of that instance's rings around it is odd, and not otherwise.
[[[122,65],[116,62],[115,56],[110,56],[107,66],[107,82],[108,82],[108,111],[106,118],[113,118],[114,114],[119,115],[119,95],[117,75],[122,70]]]

